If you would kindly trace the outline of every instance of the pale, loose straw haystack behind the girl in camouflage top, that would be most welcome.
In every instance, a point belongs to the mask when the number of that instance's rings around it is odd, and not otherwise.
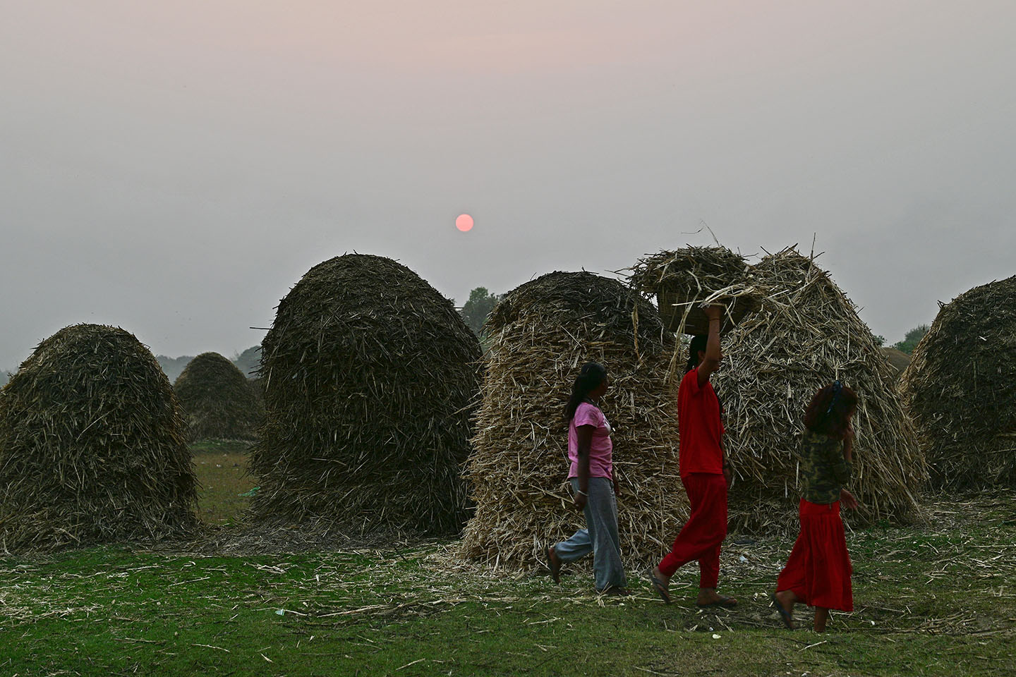
[[[925,459],[871,330],[828,273],[796,250],[767,256],[755,268],[769,295],[723,338],[714,377],[736,475],[732,528],[796,525],[802,418],[812,396],[834,379],[861,397],[850,490],[862,510],[846,519],[916,517]]]

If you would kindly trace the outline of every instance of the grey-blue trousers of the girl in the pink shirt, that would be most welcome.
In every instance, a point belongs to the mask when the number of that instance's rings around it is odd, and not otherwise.
[[[578,491],[578,478],[571,478]],[[598,592],[627,586],[621,563],[621,539],[618,537],[618,499],[614,485],[606,477],[589,478],[585,501],[585,529],[579,529],[567,541],[554,546],[561,561],[570,562],[592,553],[592,570]]]

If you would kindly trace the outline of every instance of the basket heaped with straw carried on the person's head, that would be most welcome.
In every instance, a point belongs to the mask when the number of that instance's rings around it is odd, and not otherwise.
[[[728,331],[759,309],[762,290],[751,266],[725,247],[687,247],[646,255],[630,269],[628,282],[646,296],[656,296],[663,326],[683,334],[706,334],[702,306],[717,302]]]

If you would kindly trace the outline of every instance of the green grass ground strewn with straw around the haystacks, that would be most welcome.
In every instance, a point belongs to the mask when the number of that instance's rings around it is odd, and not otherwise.
[[[235,522],[242,449],[195,459],[202,518]],[[848,535],[856,610],[824,635],[769,608],[789,539],[725,548],[721,585],[742,605],[718,612],[694,607],[692,567],[664,606],[636,572],[635,596],[598,598],[585,569],[557,587],[455,567],[450,542],[0,559],[0,675],[1014,674],[1014,507],[1012,491],[938,500],[927,527]]]

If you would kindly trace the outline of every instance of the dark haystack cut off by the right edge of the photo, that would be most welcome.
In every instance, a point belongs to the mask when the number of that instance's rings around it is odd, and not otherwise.
[[[943,306],[900,387],[934,485],[1016,483],[1016,276]]]

